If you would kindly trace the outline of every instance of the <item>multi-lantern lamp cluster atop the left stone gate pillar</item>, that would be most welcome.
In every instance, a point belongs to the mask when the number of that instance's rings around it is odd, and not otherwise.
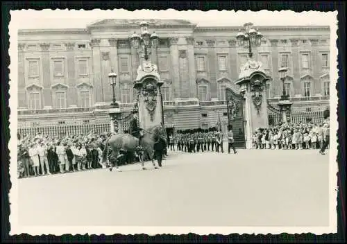
[[[158,46],[159,37],[155,32],[152,34],[149,33],[149,24],[146,21],[142,21],[139,24],[141,35],[138,35],[136,32],[130,36],[131,45],[135,49],[139,49],[142,46],[144,49],[144,60],[149,60],[149,48],[156,48]]]

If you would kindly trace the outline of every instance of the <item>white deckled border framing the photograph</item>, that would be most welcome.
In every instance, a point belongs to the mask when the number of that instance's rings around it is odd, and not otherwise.
[[[325,19],[330,21],[325,21],[325,26],[330,26],[330,167],[329,167],[329,211],[330,220],[328,227],[142,227],[142,226],[56,226],[56,227],[45,227],[45,226],[21,226],[19,225],[19,212],[18,212],[18,178],[17,178],[17,80],[18,80],[18,50],[17,50],[17,40],[18,40],[18,29],[21,28],[21,22],[25,21],[30,17],[47,17],[47,18],[85,18],[88,15],[100,16],[100,19],[126,17],[126,15],[136,16],[137,18],[147,18],[152,19],[153,12],[158,15],[158,18],[168,18],[171,17],[170,12],[179,12],[176,10],[136,10],[130,12],[127,10],[119,10],[120,14],[115,15],[114,10],[15,10],[10,11],[11,21],[9,24],[10,33],[10,142],[8,148],[10,150],[10,181],[12,182],[12,188],[9,193],[10,201],[10,235],[14,234],[31,234],[31,235],[41,235],[41,234],[302,234],[302,233],[313,233],[313,234],[329,234],[337,232],[337,85],[338,70],[337,70],[337,11],[335,12],[321,12],[321,15]],[[226,11],[223,10],[218,12],[217,10],[210,10],[208,12],[202,12],[201,10],[188,10],[182,11],[182,18],[187,19],[187,16],[201,15],[203,19],[206,16],[211,15],[223,15],[226,16],[226,12],[230,12],[231,15],[248,13],[255,16],[257,12],[251,11]],[[268,12],[271,15],[271,11],[262,10],[260,12]],[[278,12],[278,11],[276,11]],[[316,11],[310,11],[316,12]],[[285,19],[285,16],[303,16],[310,12],[295,13],[291,10],[280,11]],[[262,15],[264,17],[264,15]],[[302,18],[301,18],[302,19]],[[260,19],[261,20],[261,19]],[[298,19],[291,19],[291,21],[300,21]],[[301,25],[302,23],[298,23]]]

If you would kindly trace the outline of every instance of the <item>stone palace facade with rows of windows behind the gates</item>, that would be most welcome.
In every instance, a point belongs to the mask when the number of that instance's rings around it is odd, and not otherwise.
[[[247,49],[237,45],[236,27],[203,27],[183,20],[148,20],[160,37],[151,61],[164,81],[164,121],[176,129],[208,128],[221,118],[226,126],[226,87],[235,85]],[[328,26],[256,26],[264,35],[253,58],[272,77],[270,103],[282,95],[278,77],[288,67],[285,89],[294,111],[324,110],[329,105]],[[139,20],[105,19],[85,29],[19,30],[19,127],[109,121],[108,80],[118,74],[116,98],[124,113],[135,101],[133,80],[142,51],[130,46]]]

